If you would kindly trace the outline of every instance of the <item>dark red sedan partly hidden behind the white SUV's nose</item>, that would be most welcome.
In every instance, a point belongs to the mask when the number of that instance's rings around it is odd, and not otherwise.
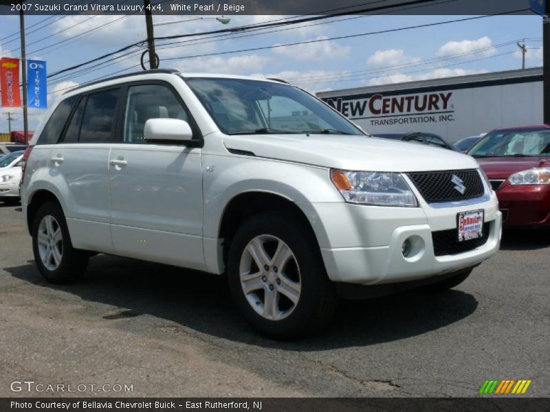
[[[550,125],[493,130],[468,155],[487,174],[506,226],[550,228]]]

